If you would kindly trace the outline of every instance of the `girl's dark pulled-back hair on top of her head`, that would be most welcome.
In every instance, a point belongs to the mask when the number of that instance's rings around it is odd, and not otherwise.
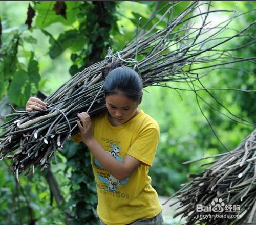
[[[127,98],[140,101],[143,84],[139,74],[129,67],[118,67],[120,65],[120,63],[110,65],[110,70],[114,69],[105,77],[103,87],[105,96],[118,94],[121,91]]]

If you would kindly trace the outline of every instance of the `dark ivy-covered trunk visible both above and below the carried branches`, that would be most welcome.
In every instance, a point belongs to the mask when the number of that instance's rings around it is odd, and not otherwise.
[[[71,60],[73,65],[70,74],[75,74],[82,68],[103,59],[106,48],[111,43],[110,31],[116,29],[115,3],[114,2],[84,2],[79,7],[78,34],[83,33],[87,40],[87,46],[80,53],[73,53]],[[71,189],[68,207],[71,208],[72,224],[96,225],[98,224],[97,191],[90,162],[90,151],[83,143],[75,144],[69,141],[65,145],[63,154],[67,158],[67,168],[72,168]]]

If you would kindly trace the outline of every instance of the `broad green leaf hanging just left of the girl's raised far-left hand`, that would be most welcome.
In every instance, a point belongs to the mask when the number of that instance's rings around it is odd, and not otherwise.
[[[29,76],[25,70],[17,71],[13,76],[8,96],[18,106],[25,106],[30,96],[31,86],[28,80]]]

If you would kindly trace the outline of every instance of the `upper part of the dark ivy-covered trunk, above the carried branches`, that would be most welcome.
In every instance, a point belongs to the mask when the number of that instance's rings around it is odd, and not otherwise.
[[[106,49],[112,44],[110,31],[117,28],[114,2],[84,2],[79,6],[80,20],[77,35],[86,39],[87,45],[71,55],[73,65],[70,74],[81,71],[104,58]],[[86,18],[85,20],[83,18]]]

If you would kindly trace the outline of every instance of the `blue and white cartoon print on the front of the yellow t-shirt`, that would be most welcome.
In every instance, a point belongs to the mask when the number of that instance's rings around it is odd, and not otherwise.
[[[116,146],[114,144],[110,144],[110,147],[112,148],[112,151],[108,153],[118,161],[122,162],[123,157],[121,158],[119,157],[119,151],[121,150],[121,147]],[[104,167],[99,163],[99,161],[96,158],[94,158],[94,163],[97,168],[105,170]],[[113,177],[111,174],[108,174],[108,177],[103,177],[100,175],[99,172],[97,172],[97,178],[100,181],[102,181],[104,184],[108,185],[108,187],[106,188],[107,191],[113,191],[113,192],[117,192],[118,186],[123,186],[129,181],[129,178],[119,181],[115,177]]]

